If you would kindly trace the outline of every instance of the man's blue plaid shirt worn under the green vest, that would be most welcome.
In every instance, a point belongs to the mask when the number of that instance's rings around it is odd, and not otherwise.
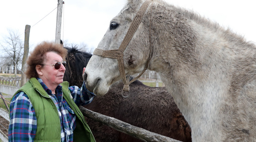
[[[52,91],[38,78],[38,81],[49,94],[58,109],[58,115],[61,122],[61,141],[72,142],[73,130],[76,127],[76,115],[67,104],[62,95],[62,86],[56,88],[57,95],[52,94]],[[93,93],[89,92],[85,84],[81,88],[77,86],[69,87],[71,95],[76,105],[86,105],[92,102]],[[36,133],[36,117],[35,110],[24,92],[17,93],[10,104],[10,125],[9,125],[9,142],[33,142]]]

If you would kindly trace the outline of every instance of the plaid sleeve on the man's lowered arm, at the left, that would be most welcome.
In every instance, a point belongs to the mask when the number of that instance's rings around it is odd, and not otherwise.
[[[35,110],[28,96],[17,93],[10,103],[9,142],[33,142],[36,128]]]

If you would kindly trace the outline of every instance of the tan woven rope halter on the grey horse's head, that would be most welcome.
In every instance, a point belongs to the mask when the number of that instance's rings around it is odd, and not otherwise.
[[[148,64],[149,64],[149,59],[151,57],[151,18],[150,18],[150,26],[149,26],[149,43],[150,43],[150,54],[149,54],[149,58],[146,62],[146,66],[144,68],[144,70],[134,79],[132,79],[130,82],[128,82],[126,80],[126,75],[125,75],[125,67],[124,67],[124,50],[127,47],[127,45],[129,44],[132,36],[134,35],[134,33],[136,32],[139,24],[142,21],[142,17],[143,14],[146,12],[148,5],[151,3],[151,0],[146,0],[140,7],[139,11],[137,12],[134,20],[132,20],[132,23],[128,29],[128,32],[126,33],[120,47],[118,49],[113,49],[113,50],[103,50],[103,49],[99,49],[96,48],[93,52],[94,55],[99,55],[102,57],[106,57],[106,58],[117,58],[118,61],[118,68],[119,68],[119,72],[120,75],[122,77],[122,81],[124,83],[124,87],[122,91],[126,91],[129,92],[130,88],[129,88],[129,84],[131,84],[132,82],[136,81],[147,69],[148,69]],[[152,15],[152,5],[151,5],[151,15]],[[150,16],[151,16],[150,15]],[[128,83],[127,83],[128,82]],[[123,95],[122,95],[123,96]],[[123,96],[125,97],[125,96]]]

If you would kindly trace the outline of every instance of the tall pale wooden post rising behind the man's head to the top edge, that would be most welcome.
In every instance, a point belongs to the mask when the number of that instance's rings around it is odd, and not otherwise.
[[[56,20],[56,33],[55,33],[55,43],[57,43],[57,44],[61,43],[62,4],[63,4],[63,0],[58,0],[57,20]]]

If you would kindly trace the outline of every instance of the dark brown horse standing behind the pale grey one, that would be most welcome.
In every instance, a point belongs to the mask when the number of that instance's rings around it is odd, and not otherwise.
[[[64,80],[70,85],[81,86],[83,67],[92,55],[76,48],[66,49]],[[135,81],[130,84],[127,98],[121,96],[122,87],[121,82],[112,85],[107,95],[95,96],[85,107],[151,132],[184,142],[191,141],[191,129],[165,87],[149,87]],[[140,142],[92,119],[86,118],[86,121],[97,142]]]

